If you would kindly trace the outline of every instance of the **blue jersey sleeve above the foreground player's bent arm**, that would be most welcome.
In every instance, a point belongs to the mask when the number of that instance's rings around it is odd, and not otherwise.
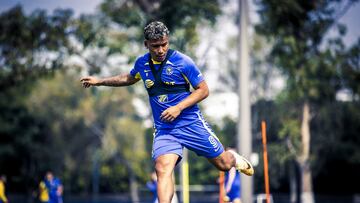
[[[199,68],[195,65],[194,61],[188,57],[184,58],[182,73],[194,88],[204,81],[204,77]]]

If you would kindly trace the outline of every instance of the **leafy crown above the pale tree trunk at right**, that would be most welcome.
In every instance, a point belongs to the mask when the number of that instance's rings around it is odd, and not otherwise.
[[[260,1],[259,5],[262,22],[256,28],[274,41],[271,62],[289,77],[290,98],[317,102],[334,99],[341,88],[337,69],[343,59],[329,45],[321,45],[337,20],[333,8],[340,7],[341,2]],[[343,26],[339,32],[340,36],[344,34]]]

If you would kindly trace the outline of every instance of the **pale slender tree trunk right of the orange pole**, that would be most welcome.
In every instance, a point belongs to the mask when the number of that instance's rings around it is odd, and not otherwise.
[[[302,150],[298,159],[301,178],[301,202],[314,203],[314,194],[312,191],[312,178],[310,168],[310,107],[309,102],[303,104],[303,117],[301,122],[301,141]]]

